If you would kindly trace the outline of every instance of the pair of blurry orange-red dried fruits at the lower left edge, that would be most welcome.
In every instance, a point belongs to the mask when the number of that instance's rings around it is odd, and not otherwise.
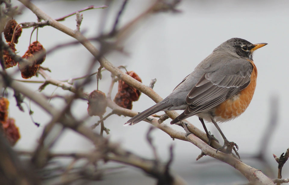
[[[15,125],[13,118],[8,118],[9,101],[0,97],[0,122],[4,129],[4,134],[9,143],[13,146],[20,138],[19,129]]]

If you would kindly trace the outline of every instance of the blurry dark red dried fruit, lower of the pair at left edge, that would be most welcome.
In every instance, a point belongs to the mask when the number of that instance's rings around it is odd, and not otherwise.
[[[20,133],[18,127],[15,125],[15,120],[13,118],[8,118],[5,121],[1,122],[4,128],[4,133],[9,141],[9,143],[13,146],[20,138]]]

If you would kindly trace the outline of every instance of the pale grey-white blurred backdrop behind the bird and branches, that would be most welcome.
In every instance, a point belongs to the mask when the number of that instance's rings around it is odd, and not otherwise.
[[[19,4],[17,1],[12,1]],[[112,4],[106,21],[105,30],[110,30],[122,1]],[[104,5],[104,1],[36,1],[39,8],[53,18],[62,17],[71,12],[85,8],[89,5]],[[148,1],[129,1],[124,14],[121,17],[120,25],[124,25],[129,20],[137,16],[144,8],[148,7]],[[123,44],[128,56],[119,52],[107,55],[107,59],[115,66],[127,66],[129,71],[135,71],[142,79],[142,82],[149,85],[151,79],[156,78],[154,90],[161,97],[166,97],[179,82],[193,71],[195,66],[209,55],[219,44],[232,37],[246,39],[252,43],[266,42],[263,48],[258,49],[254,55],[254,61],[258,69],[257,87],[252,102],[248,109],[237,119],[220,124],[222,131],[229,141],[238,144],[239,153],[244,156],[243,160],[248,165],[262,169],[263,166],[256,161],[246,160],[247,154],[255,154],[259,150],[260,139],[269,121],[269,100],[272,95],[279,99],[278,126],[269,142],[266,157],[274,165],[274,172],[277,176],[277,163],[272,157],[272,153],[280,156],[288,148],[288,1],[183,1],[178,9],[179,14],[159,13],[151,15],[147,20],[139,24],[138,29],[132,33],[129,39]],[[83,12],[81,31],[86,30],[85,36],[92,37],[99,33],[101,13],[104,10],[89,10]],[[23,14],[15,17],[18,23],[37,21],[36,16],[28,9]],[[75,29],[75,16],[62,21],[64,25]],[[32,29],[23,29],[19,43],[16,45],[19,55],[23,55],[28,48],[30,33]],[[36,40],[33,34],[32,42]],[[46,48],[69,41],[73,38],[52,28],[45,26],[39,29],[38,41]],[[60,49],[46,57],[42,66],[49,67],[52,72],[51,77],[55,79],[69,79],[85,74],[87,65],[92,60],[92,55],[82,46],[71,46]],[[98,66],[97,66],[98,67]],[[17,68],[17,67],[16,67]],[[16,68],[9,71],[13,72]],[[97,71],[95,68],[94,71]],[[99,90],[107,93],[111,78],[109,72],[103,72],[103,79],[99,85]],[[20,73],[15,78],[20,79]],[[85,88],[90,92],[96,89],[96,77],[94,81]],[[33,77],[31,80],[42,80],[42,77]],[[31,89],[37,91],[40,84],[26,84]],[[44,93],[51,95],[55,86],[48,85]],[[69,94],[61,88],[57,88],[55,94]],[[113,89],[113,97],[117,93],[117,84]],[[19,150],[33,150],[36,141],[42,130],[50,121],[50,117],[38,106],[31,104],[34,111],[33,118],[41,124],[40,128],[30,121],[28,111],[22,113],[15,106],[13,93],[10,92],[10,117],[16,119],[16,124],[20,128],[21,139],[15,146]],[[26,102],[29,102],[26,100]],[[51,100],[56,107],[64,106],[64,101],[60,99]],[[133,103],[133,110],[142,110],[154,105],[153,100],[141,94],[140,99]],[[87,103],[77,100],[73,105],[73,113],[76,117],[83,117],[87,114]],[[107,113],[110,113],[107,108]],[[111,116],[104,124],[110,129],[109,138],[112,141],[120,142],[121,145],[132,152],[151,158],[152,151],[145,140],[145,134],[149,128],[146,122],[137,125],[123,127],[129,118],[124,116]],[[99,120],[92,117],[87,125],[92,125]],[[197,117],[188,119],[198,128],[203,129]],[[169,120],[166,123],[169,124]],[[172,125],[173,128],[180,129],[179,126]],[[208,129],[219,139],[223,140],[213,124],[207,123]],[[95,131],[99,132],[100,128]],[[212,160],[208,156],[200,159],[196,163],[195,159],[200,150],[184,141],[172,141],[172,139],[162,131],[154,130],[154,143],[157,145],[158,153],[163,161],[169,156],[168,148],[174,145],[173,170],[180,174],[190,184],[216,184],[218,182],[246,182],[244,177],[240,177],[234,168]],[[57,152],[88,151],[93,146],[84,138],[72,131],[66,131],[53,150]],[[262,169],[264,171],[264,169]],[[222,173],[221,173],[222,172]],[[283,177],[289,177],[289,165],[283,168]],[[132,175],[133,174],[133,175]],[[213,175],[212,175],[213,174]],[[197,178],[198,176],[204,176]],[[124,170],[117,178],[113,175],[104,177],[98,184],[138,184],[154,183],[141,171]],[[131,182],[127,182],[130,179]]]

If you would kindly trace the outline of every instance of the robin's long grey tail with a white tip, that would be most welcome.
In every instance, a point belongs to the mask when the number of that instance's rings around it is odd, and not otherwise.
[[[155,104],[154,106],[144,110],[143,112],[139,113],[138,115],[132,117],[127,121],[124,125],[134,125],[137,124],[138,122],[146,119],[148,116],[151,116],[157,112],[160,112],[161,110],[164,110],[168,108],[169,105],[166,100],[160,101],[159,103]]]

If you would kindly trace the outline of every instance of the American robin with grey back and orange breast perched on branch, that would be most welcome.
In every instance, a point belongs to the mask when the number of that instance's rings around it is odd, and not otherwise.
[[[209,143],[215,138],[207,131],[204,120],[213,122],[224,139],[222,148],[228,147],[231,142],[226,139],[217,122],[235,119],[248,107],[257,79],[253,51],[265,45],[267,43],[252,44],[240,38],[223,42],[168,97],[129,119],[125,125],[134,125],[159,111],[185,110],[171,124],[197,115]]]

